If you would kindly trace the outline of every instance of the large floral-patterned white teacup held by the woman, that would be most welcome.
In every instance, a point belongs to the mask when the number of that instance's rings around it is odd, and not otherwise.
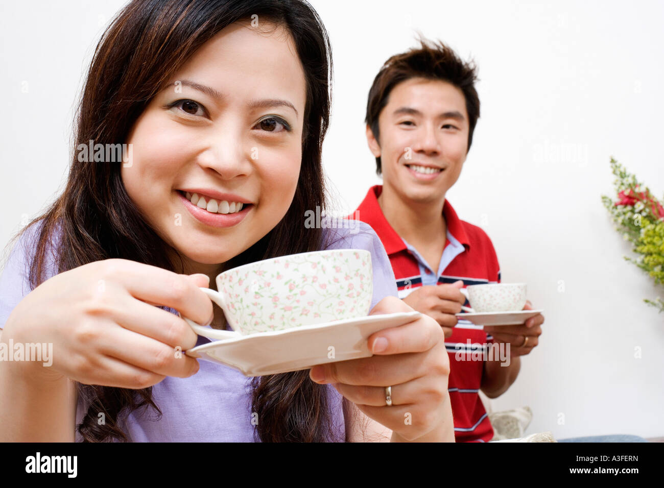
[[[219,274],[216,287],[201,289],[234,332],[183,317],[196,333],[214,339],[365,317],[373,297],[371,253],[339,249],[257,261]]]

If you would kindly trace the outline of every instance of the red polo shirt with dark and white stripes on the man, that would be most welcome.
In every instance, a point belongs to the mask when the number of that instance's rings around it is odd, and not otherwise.
[[[440,263],[444,269],[438,270],[440,273],[433,270],[438,276],[431,276],[417,251],[404,242],[387,222],[377,200],[381,192],[382,186],[371,187],[351,218],[367,222],[378,234],[390,258],[399,297],[403,298],[422,286],[423,281],[424,284],[446,284],[463,280],[463,287],[500,282],[498,258],[489,236],[481,228],[459,220],[447,200],[443,206],[447,240]],[[422,274],[423,269],[426,276]],[[484,362],[472,361],[470,351],[483,349],[492,339],[482,327],[461,319],[452,331],[445,346],[450,356],[448,391],[452,402],[455,438],[457,442],[488,442],[493,438],[493,428],[478,394]],[[459,361],[457,357],[466,360]],[[476,353],[477,357],[481,356]]]

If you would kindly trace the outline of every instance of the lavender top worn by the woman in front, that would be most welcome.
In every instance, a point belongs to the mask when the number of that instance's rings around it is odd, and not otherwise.
[[[396,297],[396,282],[387,254],[373,229],[364,222],[357,226],[324,229],[328,249],[365,249],[371,252],[373,266],[373,308],[387,295]],[[30,293],[28,283],[29,260],[34,256],[37,228],[41,222],[26,230],[14,246],[0,276],[0,328],[16,305]],[[52,246],[54,248],[54,246]],[[54,256],[49,252],[48,274],[56,274]],[[168,309],[171,313],[177,311]],[[199,336],[197,345],[210,342]],[[229,366],[200,361],[199,372],[189,378],[167,376],[152,388],[155,404],[161,418],[153,408],[134,410],[122,422],[127,438],[133,442],[254,442],[251,398],[252,378]],[[334,432],[345,438],[342,410],[343,397],[327,385],[329,408]],[[87,410],[79,398],[76,423]],[[80,442],[80,435],[76,434]]]

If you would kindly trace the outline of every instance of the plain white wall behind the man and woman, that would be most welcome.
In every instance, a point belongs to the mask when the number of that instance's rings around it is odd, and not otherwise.
[[[414,46],[418,30],[479,65],[481,118],[448,198],[491,236],[503,281],[527,282],[546,317],[540,346],[494,408],[529,405],[528,432],[556,438],[664,436],[664,314],[641,301],[664,293],[622,259],[629,248],[600,200],[612,194],[612,155],[655,195],[664,191],[664,4],[311,3],[333,46],[325,165],[339,210],[353,210],[379,181],[363,119],[382,62]],[[64,183],[83,69],[124,2],[87,4],[1,7],[0,244]]]

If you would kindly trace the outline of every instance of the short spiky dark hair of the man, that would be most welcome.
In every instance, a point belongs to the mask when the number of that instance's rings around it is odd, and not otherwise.
[[[429,42],[420,38],[420,44],[421,46],[418,48],[395,54],[382,65],[369,90],[365,123],[371,127],[371,131],[378,141],[380,137],[378,116],[387,105],[390,92],[397,84],[410,78],[445,81],[463,92],[469,122],[467,147],[467,151],[469,151],[473,142],[473,130],[475,130],[475,124],[479,118],[479,96],[475,90],[477,67],[473,62],[463,62],[452,48],[440,41]],[[381,170],[380,157],[376,157],[378,176],[380,176]]]

